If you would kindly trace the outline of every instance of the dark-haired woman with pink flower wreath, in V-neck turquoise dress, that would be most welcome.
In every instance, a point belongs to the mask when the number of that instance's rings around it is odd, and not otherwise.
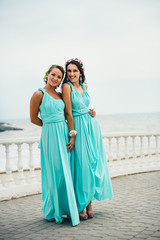
[[[113,193],[101,130],[95,111],[89,110],[83,63],[70,59],[65,68],[62,97],[69,131],[73,133],[67,146],[78,212],[86,220],[94,216],[91,201],[112,199]]]

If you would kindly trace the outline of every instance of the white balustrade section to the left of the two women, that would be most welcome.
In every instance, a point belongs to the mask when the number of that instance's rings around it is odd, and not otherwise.
[[[0,140],[0,201],[41,192],[38,142],[39,138]]]

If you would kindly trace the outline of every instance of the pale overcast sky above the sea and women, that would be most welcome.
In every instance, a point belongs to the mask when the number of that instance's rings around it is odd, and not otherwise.
[[[29,118],[52,64],[85,67],[97,114],[160,112],[159,0],[0,0],[0,119]]]

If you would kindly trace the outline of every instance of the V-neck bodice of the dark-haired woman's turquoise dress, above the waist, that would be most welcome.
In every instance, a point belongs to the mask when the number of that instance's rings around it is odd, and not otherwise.
[[[72,102],[72,114],[73,117],[86,114],[89,111],[89,104],[90,104],[90,96],[85,88],[85,86],[81,84],[83,88],[83,96],[77,92],[72,83],[68,82],[68,84],[71,86],[72,94],[71,94],[71,102]]]

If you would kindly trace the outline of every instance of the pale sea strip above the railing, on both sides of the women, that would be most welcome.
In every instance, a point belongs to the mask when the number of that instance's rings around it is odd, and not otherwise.
[[[102,135],[105,133],[160,133],[160,112],[97,115],[96,118]],[[3,119],[0,122],[23,129],[0,132],[0,140],[41,135],[41,127],[32,124],[29,119]]]

